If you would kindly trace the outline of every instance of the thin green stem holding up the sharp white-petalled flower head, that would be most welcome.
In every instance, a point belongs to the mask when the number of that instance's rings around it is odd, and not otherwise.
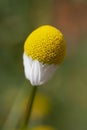
[[[36,90],[37,90],[37,86],[33,86],[31,96],[28,99],[28,103],[27,103],[27,106],[26,106],[26,110],[25,110],[25,114],[24,114],[24,118],[23,118],[22,129],[27,128],[28,122],[30,120],[32,106],[33,106],[34,98],[35,98],[35,95],[36,95]]]

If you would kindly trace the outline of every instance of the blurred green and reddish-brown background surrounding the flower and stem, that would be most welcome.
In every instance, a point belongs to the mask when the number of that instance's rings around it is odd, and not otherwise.
[[[52,80],[38,88],[29,126],[87,130],[86,0],[0,0],[0,130],[21,125],[32,89],[24,76],[23,45],[44,24],[63,32],[67,54]]]

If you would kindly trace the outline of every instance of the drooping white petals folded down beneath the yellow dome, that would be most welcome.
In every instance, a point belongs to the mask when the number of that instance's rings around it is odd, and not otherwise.
[[[42,64],[38,60],[32,60],[25,53],[23,54],[25,76],[33,86],[44,84],[48,81],[58,68],[57,65]]]

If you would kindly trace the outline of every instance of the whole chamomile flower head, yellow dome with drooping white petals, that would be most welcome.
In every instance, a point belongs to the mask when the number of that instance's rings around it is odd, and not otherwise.
[[[24,44],[23,65],[33,86],[44,84],[62,63],[66,52],[63,34],[53,26],[34,30]]]

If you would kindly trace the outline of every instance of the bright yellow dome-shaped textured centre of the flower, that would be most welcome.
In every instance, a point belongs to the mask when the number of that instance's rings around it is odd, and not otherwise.
[[[50,25],[41,26],[28,36],[24,52],[43,64],[60,64],[66,52],[63,34]]]

